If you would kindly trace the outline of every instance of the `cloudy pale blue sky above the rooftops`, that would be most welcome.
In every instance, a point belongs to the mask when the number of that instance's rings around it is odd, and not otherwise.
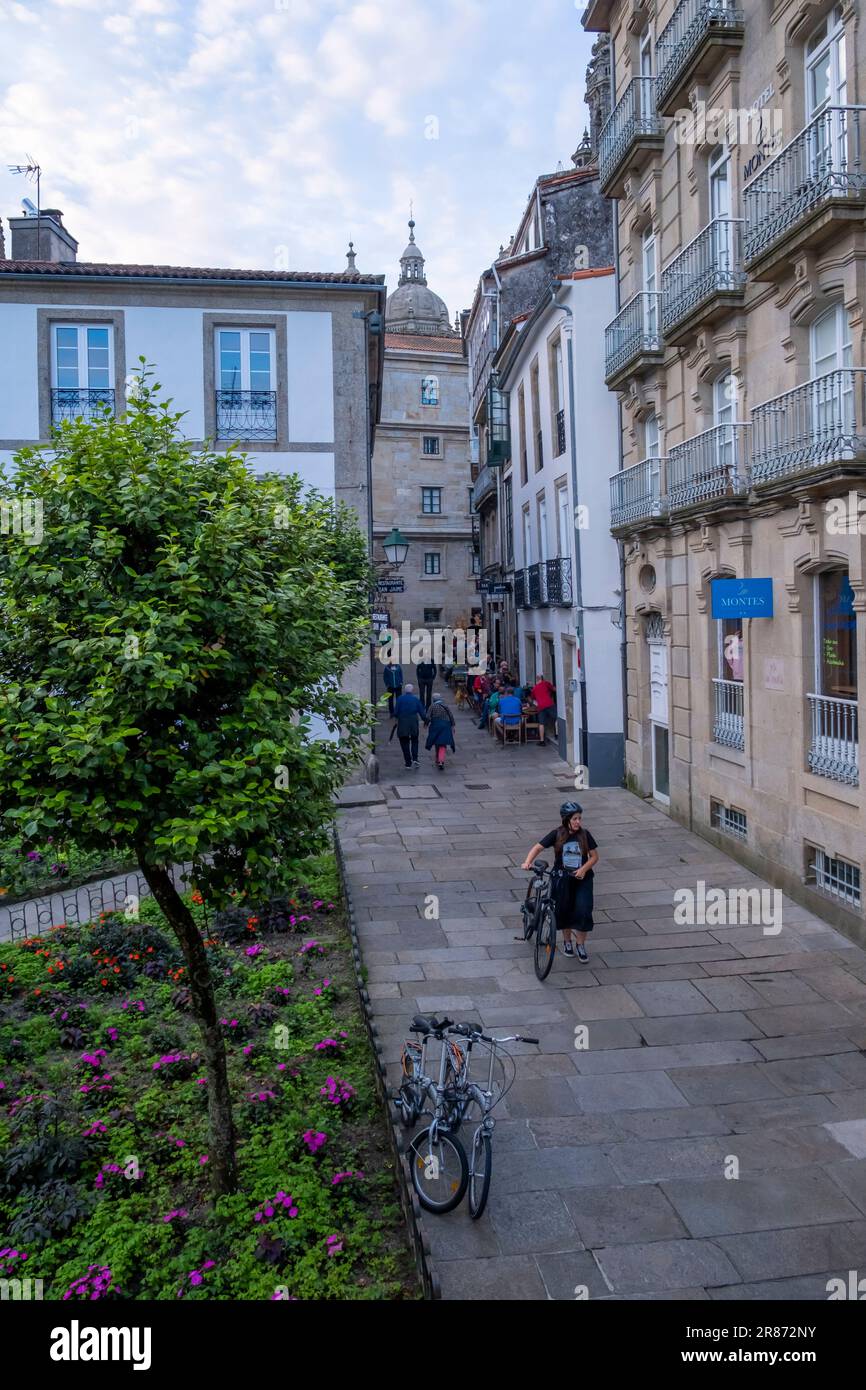
[[[0,215],[79,259],[399,272],[452,313],[587,124],[585,0],[0,0]],[[8,250],[8,247],[7,247]]]

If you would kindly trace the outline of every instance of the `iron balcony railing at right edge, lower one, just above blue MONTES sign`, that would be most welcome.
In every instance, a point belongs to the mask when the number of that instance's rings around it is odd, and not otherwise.
[[[866,370],[840,367],[752,411],[752,482],[866,463]]]

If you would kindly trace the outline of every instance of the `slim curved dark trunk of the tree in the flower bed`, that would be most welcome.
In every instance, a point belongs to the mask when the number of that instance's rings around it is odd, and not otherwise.
[[[217,1017],[217,1001],[214,998],[214,983],[207,952],[192,912],[178,894],[170,873],[161,865],[147,863],[140,849],[138,858],[140,870],[175,933],[186,962],[192,1006],[204,1042],[207,1113],[210,1119],[209,1168],[213,1191],[217,1197],[222,1197],[225,1193],[234,1193],[238,1187],[238,1161],[235,1156],[235,1123],[228,1090],[225,1041]]]

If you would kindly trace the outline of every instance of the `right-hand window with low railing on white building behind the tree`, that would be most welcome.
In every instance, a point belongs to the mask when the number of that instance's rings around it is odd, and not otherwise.
[[[218,328],[217,439],[277,439],[272,328]]]

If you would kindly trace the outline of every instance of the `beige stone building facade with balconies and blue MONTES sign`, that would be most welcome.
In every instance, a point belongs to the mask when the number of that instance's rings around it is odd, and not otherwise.
[[[865,938],[866,32],[852,0],[591,0],[631,784]],[[865,505],[866,506],[866,505]],[[771,581],[714,619],[713,581]]]

